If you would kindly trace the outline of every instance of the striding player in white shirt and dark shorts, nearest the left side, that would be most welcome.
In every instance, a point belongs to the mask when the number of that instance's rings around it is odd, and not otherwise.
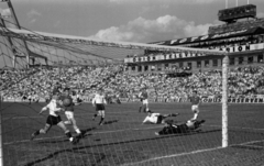
[[[50,114],[46,119],[46,124],[45,124],[44,129],[35,131],[31,135],[31,140],[33,140],[35,136],[37,136],[40,134],[46,134],[53,125],[57,125],[64,131],[65,135],[69,139],[69,141],[73,144],[78,142],[78,140],[76,137],[73,137],[72,133],[69,132],[69,130],[66,128],[66,125],[62,121],[62,119],[59,117],[59,112],[64,111],[64,109],[61,108],[59,104],[63,104],[63,103],[61,100],[58,100],[58,96],[55,95],[55,96],[53,96],[53,99],[51,100],[51,102],[47,106],[45,106],[44,108],[42,108],[42,110],[38,114],[42,114],[44,111],[50,111]]]

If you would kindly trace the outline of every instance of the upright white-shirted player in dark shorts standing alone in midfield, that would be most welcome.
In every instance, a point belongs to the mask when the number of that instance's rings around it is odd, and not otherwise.
[[[102,125],[105,117],[106,117],[106,107],[105,104],[107,104],[107,100],[105,98],[105,96],[102,95],[102,90],[100,89],[98,91],[98,93],[95,95],[92,101],[91,101],[92,106],[96,107],[96,111],[97,113],[94,114],[92,121],[95,121],[95,119],[97,118],[97,115],[101,117],[101,120],[99,122],[99,125]]]

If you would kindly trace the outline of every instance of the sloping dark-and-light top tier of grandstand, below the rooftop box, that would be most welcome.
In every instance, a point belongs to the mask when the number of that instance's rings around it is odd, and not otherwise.
[[[198,42],[216,41],[216,40],[229,38],[229,37],[235,37],[235,36],[245,36],[245,35],[257,34],[257,33],[264,33],[264,27],[257,26],[257,27],[244,29],[244,30],[232,31],[232,32],[207,34],[207,35],[200,35],[200,36],[194,36],[194,37],[170,40],[170,41],[160,41],[160,42],[153,42],[150,44],[182,45],[182,44],[190,44],[190,43],[198,43]]]

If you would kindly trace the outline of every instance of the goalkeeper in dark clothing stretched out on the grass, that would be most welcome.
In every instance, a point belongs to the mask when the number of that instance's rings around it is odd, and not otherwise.
[[[178,133],[189,133],[195,132],[205,120],[189,120],[183,124],[173,124],[172,121],[166,122],[166,126],[164,126],[160,132],[155,132],[155,135],[167,135],[167,134],[178,134]]]

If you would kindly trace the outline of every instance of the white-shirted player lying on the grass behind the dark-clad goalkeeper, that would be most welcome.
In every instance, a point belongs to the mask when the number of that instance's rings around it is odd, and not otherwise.
[[[161,114],[161,113],[154,113],[151,110],[147,111],[147,115],[142,122],[142,124],[151,123],[151,124],[162,124],[164,123],[164,120],[168,117],[177,117],[178,113],[170,113],[170,114]]]

